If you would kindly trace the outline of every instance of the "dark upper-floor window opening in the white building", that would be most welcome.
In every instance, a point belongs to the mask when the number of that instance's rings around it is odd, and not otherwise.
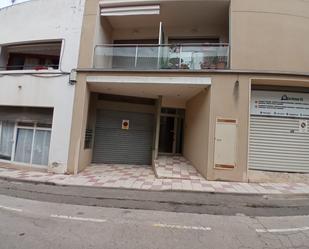
[[[59,69],[61,42],[19,44],[2,47],[2,70]],[[4,65],[6,62],[6,65]]]

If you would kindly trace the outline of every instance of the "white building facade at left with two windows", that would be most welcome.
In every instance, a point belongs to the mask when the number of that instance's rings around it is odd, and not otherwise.
[[[1,163],[67,171],[84,1],[0,9]]]

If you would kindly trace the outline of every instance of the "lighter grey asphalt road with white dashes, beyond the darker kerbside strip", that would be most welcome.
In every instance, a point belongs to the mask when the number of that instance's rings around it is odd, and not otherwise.
[[[91,207],[0,195],[0,248],[309,248],[309,216]]]

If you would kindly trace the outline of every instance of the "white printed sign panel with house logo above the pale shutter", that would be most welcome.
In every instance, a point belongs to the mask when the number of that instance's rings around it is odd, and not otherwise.
[[[251,115],[309,118],[309,94],[254,90]]]

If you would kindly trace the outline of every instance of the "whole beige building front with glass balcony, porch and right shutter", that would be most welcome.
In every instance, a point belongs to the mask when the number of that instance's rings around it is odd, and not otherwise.
[[[309,172],[308,17],[300,0],[86,1],[68,170]]]

